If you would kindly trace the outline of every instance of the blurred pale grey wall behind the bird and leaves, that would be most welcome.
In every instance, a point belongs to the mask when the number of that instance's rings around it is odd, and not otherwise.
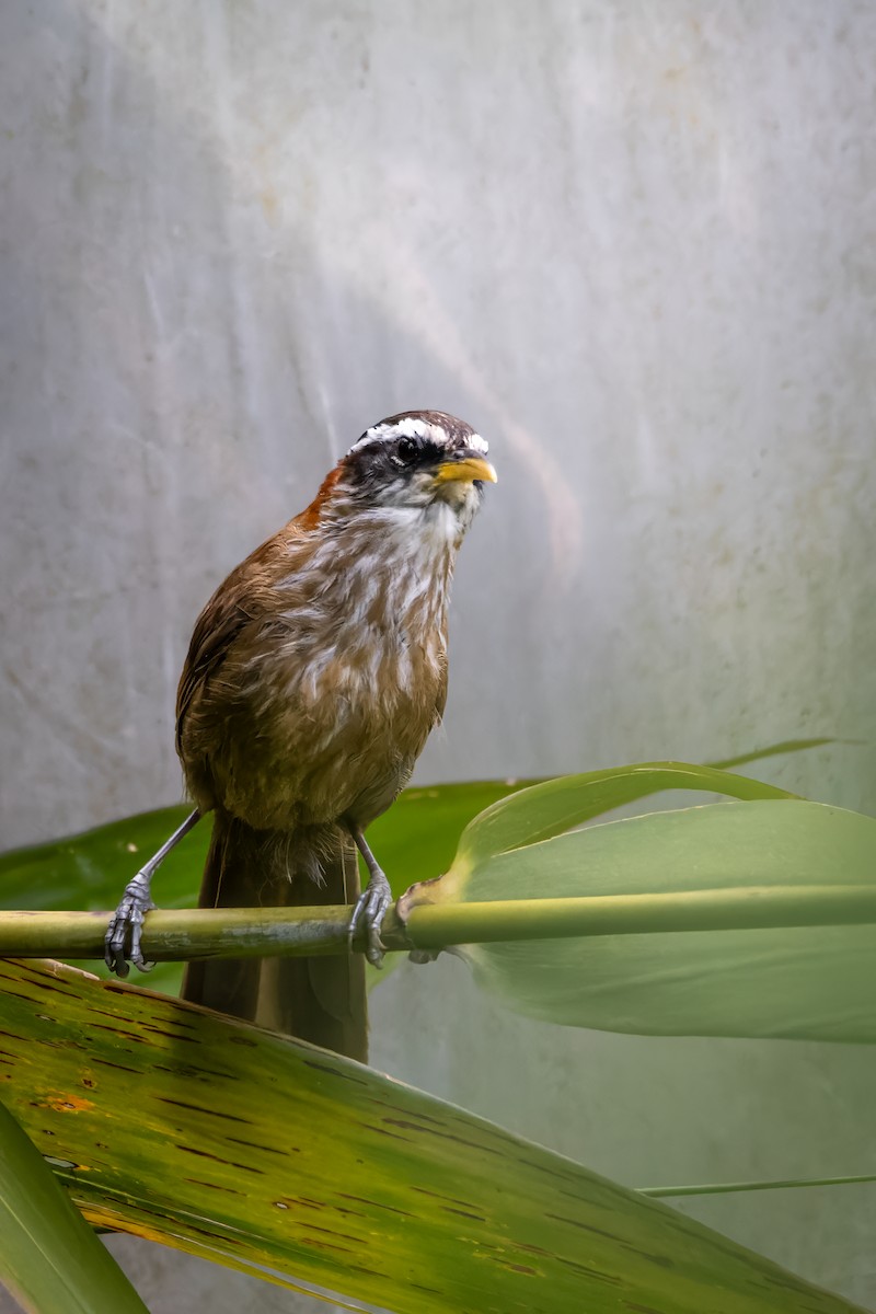
[[[758,774],[876,809],[872,4],[13,0],[0,105],[4,848],[179,799],[198,610],[408,407],[500,480],[418,781],[826,735]],[[630,1185],[876,1171],[865,1049],[444,961],[372,1010],[377,1067]],[[876,1309],[876,1187],[679,1208]],[[311,1307],[110,1244],[154,1311]]]

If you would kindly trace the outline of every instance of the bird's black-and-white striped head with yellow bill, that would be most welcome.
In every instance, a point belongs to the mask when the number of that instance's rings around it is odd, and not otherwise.
[[[330,476],[334,497],[351,510],[401,515],[448,511],[462,531],[496,473],[487,444],[445,411],[403,411],[366,430]],[[328,481],[327,481],[328,482]]]

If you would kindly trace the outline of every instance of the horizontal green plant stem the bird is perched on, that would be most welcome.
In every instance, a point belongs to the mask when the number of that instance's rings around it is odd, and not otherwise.
[[[3,912],[0,958],[102,958],[108,920],[108,912]],[[155,909],[146,920],[143,950],[156,962],[343,954],[348,922],[349,908],[344,907]],[[387,950],[436,950],[520,940],[864,922],[876,922],[876,888],[760,886],[584,899],[422,903],[410,909],[406,926],[390,909],[383,941]]]

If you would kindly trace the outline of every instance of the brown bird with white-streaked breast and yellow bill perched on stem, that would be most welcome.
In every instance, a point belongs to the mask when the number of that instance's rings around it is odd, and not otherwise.
[[[148,970],[151,882],[208,813],[200,907],[355,904],[380,966],[389,880],[366,827],[444,714],[457,552],[496,481],[485,439],[437,410],[368,428],[314,501],[255,549],[194,625],[176,748],[194,811],[125,888],[108,966]],[[369,872],[360,894],[361,854]],[[130,937],[130,951],[126,945]],[[361,954],[188,964],[183,997],[368,1060]]]

